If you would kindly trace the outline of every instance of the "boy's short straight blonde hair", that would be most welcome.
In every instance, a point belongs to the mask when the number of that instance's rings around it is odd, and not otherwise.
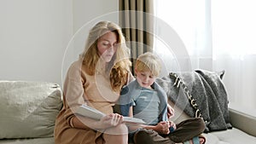
[[[158,77],[160,75],[161,61],[158,56],[151,52],[146,52],[138,56],[135,68],[137,72],[149,70],[155,77]]]

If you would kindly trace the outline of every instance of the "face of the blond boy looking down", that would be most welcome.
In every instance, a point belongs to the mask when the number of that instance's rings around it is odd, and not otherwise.
[[[141,87],[151,89],[150,85],[154,83],[155,77],[149,70],[138,72],[137,69],[135,69],[136,75],[137,75],[137,82],[140,84]]]

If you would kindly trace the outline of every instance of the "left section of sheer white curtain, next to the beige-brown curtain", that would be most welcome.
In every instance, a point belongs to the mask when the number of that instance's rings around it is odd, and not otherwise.
[[[154,39],[154,49],[168,61],[165,73],[199,67],[212,71],[210,10],[205,1],[154,1],[154,31],[160,37]]]

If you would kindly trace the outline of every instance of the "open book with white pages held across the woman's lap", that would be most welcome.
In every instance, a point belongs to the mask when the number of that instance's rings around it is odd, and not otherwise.
[[[93,107],[88,107],[85,105],[81,105],[75,113],[78,113],[88,118],[94,118],[96,120],[100,120],[102,117],[106,115],[105,113],[100,112]],[[145,122],[142,119],[132,117],[124,117],[124,122],[127,124],[145,124]]]

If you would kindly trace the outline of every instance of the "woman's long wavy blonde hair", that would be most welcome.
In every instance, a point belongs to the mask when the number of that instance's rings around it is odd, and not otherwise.
[[[96,72],[96,64],[100,59],[98,55],[97,42],[102,35],[107,32],[114,32],[118,39],[118,48],[113,58],[106,66],[106,74],[109,74],[111,87],[114,91],[119,91],[124,84],[127,83],[128,73],[130,72],[131,61],[130,49],[127,48],[125,37],[121,28],[111,21],[100,21],[96,26],[92,27],[85,44],[84,52],[80,55],[85,65],[85,72],[94,75]]]

